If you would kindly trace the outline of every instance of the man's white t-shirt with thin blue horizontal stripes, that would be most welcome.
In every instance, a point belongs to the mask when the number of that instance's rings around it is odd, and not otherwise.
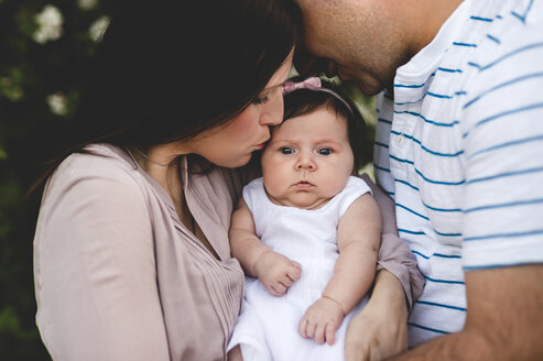
[[[543,0],[467,0],[380,98],[374,168],[426,285],[410,346],[460,330],[464,271],[543,262]]]

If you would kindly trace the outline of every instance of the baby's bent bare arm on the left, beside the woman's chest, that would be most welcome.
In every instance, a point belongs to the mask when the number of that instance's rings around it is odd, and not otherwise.
[[[286,256],[272,251],[256,234],[252,214],[243,198],[232,214],[230,248],[246,274],[259,277],[274,296],[282,296],[300,278],[302,266]]]

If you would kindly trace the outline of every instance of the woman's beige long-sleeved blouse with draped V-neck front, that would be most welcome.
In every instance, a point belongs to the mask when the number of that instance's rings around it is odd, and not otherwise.
[[[88,149],[101,156],[73,154],[48,180],[34,238],[36,322],[51,355],[225,360],[243,292],[228,242],[238,173],[191,172],[182,160],[186,203],[217,259],[129,153],[108,144]],[[411,302],[422,281],[397,241],[383,241],[390,252],[382,265]]]

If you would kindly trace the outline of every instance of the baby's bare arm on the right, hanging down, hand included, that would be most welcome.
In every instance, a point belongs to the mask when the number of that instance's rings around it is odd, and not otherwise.
[[[334,343],[336,330],[368,293],[376,275],[381,239],[381,216],[369,194],[347,209],[337,228],[339,256],[323,295],[300,321],[300,335],[317,343]]]

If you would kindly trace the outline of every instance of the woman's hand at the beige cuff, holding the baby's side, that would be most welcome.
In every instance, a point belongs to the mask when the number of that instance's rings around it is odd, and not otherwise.
[[[406,350],[406,322],[403,287],[394,275],[382,270],[376,278],[370,300],[349,324],[345,359],[382,360]]]

